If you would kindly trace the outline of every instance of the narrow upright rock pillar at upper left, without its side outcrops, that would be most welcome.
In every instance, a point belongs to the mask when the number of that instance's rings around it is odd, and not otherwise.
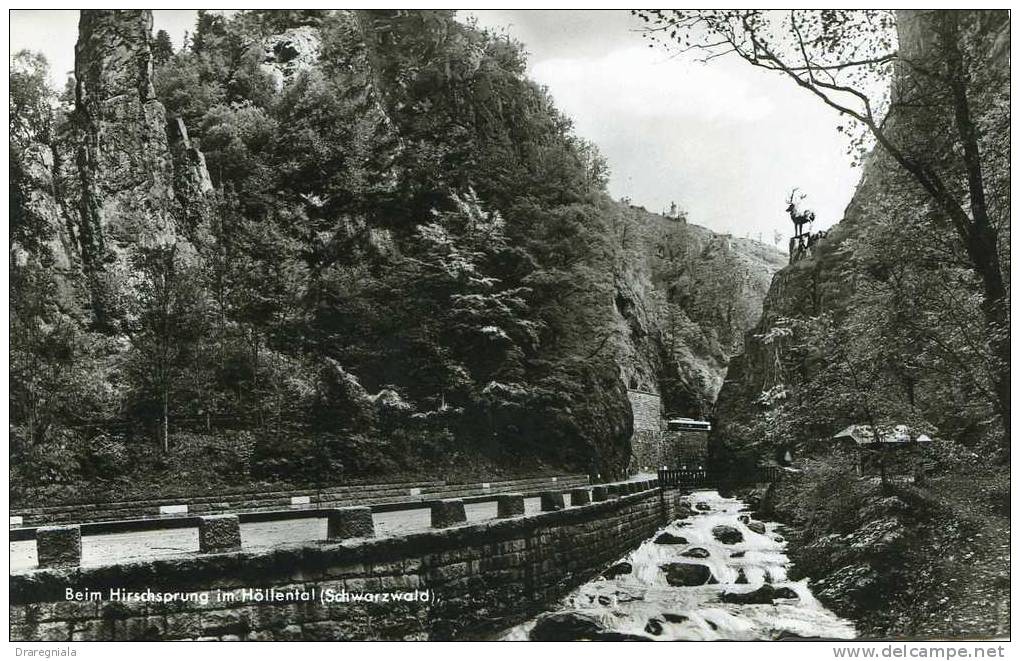
[[[81,250],[89,269],[130,244],[173,243],[180,209],[166,111],[152,87],[152,13],[83,11],[74,49]]]

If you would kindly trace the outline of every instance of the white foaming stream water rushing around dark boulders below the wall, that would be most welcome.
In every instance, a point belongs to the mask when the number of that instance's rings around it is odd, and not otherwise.
[[[536,621],[548,619],[550,613],[576,615],[582,622],[598,626],[600,633],[609,633],[608,638],[581,634],[577,637],[579,640],[612,640],[612,637],[658,641],[855,638],[853,624],[825,609],[808,590],[807,579],[787,580],[789,560],[784,552],[785,542],[776,532],[776,523],[765,522],[764,535],[756,532],[748,523],[761,530],[759,523],[747,516],[744,520],[741,518],[746,514],[742,512],[744,503],[723,498],[714,491],[695,492],[687,500],[695,506],[694,515],[660,528],[652,539],[620,559],[619,562],[631,565],[629,573],[611,578],[600,576],[584,583],[546,614],[504,632],[503,640],[529,640]],[[718,525],[736,528],[744,540],[735,544],[722,543],[712,531]],[[656,544],[654,540],[663,532],[681,537],[686,543]],[[682,555],[693,549],[704,549],[708,557]],[[694,554],[704,555],[700,551]],[[707,566],[718,582],[670,586],[667,571],[661,568],[669,563]],[[751,593],[766,583],[785,598],[775,598],[772,603],[764,604],[734,604],[720,599],[724,593]],[[797,598],[783,588],[796,593]]]

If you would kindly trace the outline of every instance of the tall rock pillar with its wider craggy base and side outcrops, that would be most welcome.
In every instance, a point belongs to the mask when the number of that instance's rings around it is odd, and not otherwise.
[[[100,321],[130,249],[186,246],[212,188],[184,123],[155,97],[151,34],[148,10],[83,11],[73,108],[51,144],[27,151],[26,190],[54,263],[88,275]]]

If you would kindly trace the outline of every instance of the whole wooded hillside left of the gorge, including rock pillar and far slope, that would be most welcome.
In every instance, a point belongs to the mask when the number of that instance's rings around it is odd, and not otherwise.
[[[451,11],[150,29],[84,12],[60,94],[12,61],[16,490],[612,473],[628,385],[710,408],[779,254],[612,201],[520,44]]]

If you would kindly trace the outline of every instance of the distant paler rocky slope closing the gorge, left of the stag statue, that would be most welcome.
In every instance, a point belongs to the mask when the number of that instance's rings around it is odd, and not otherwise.
[[[785,256],[632,207],[621,210],[615,239],[612,321],[624,382],[661,394],[666,411],[710,415]]]

